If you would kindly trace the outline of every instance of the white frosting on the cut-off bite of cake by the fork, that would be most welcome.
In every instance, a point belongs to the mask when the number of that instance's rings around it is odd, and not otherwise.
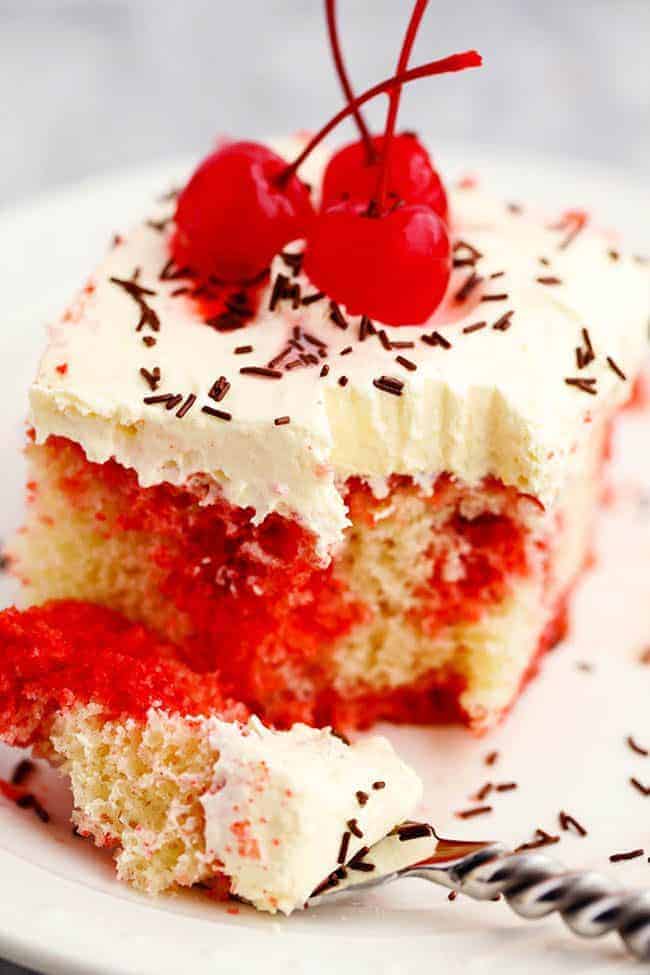
[[[346,860],[420,799],[418,777],[385,738],[346,745],[327,729],[271,731],[252,718],[245,726],[215,721],[211,744],[219,758],[201,799],[206,853],[223,864],[233,893],[262,910],[289,914],[305,904],[336,869],[348,820],[363,837],[350,836]]]

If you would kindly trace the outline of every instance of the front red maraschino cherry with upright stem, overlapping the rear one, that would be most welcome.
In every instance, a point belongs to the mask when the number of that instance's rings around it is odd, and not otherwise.
[[[400,54],[404,71],[427,0],[417,0]],[[474,60],[478,59],[478,62]],[[459,67],[480,63],[469,54]],[[342,200],[314,221],[304,270],[313,284],[345,305],[387,325],[426,321],[442,301],[451,274],[451,246],[442,218],[421,203],[388,196],[400,88],[391,91],[374,195]]]

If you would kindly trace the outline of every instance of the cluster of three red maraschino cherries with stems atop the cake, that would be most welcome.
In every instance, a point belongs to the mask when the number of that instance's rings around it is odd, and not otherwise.
[[[347,104],[292,163],[256,142],[231,142],[198,167],[178,199],[173,256],[226,283],[255,280],[292,240],[305,239],[303,267],[313,285],[352,314],[388,325],[426,321],[447,290],[451,246],[445,189],[424,146],[396,133],[400,95],[418,78],[478,67],[475,51],[408,62],[428,0],[416,0],[396,73],[355,97],[343,62],[335,0],[326,0],[330,44]],[[387,94],[382,135],[371,135],[361,107]],[[343,119],[358,141],[329,161],[318,210],[298,171]]]

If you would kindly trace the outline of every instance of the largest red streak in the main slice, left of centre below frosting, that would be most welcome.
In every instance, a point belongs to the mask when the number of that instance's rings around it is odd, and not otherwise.
[[[117,511],[104,512],[102,531],[159,540],[152,569],[181,615],[179,632],[169,635],[185,662],[199,672],[218,668],[226,693],[278,724],[313,721],[314,701],[289,689],[289,675],[316,677],[327,648],[366,611],[331,568],[318,566],[309,532],[276,514],[255,526],[250,509],[200,505],[196,492],[169,484],[143,489],[132,470],[91,464],[63,440],[50,444],[70,455],[61,487],[72,505],[84,508],[103,482]]]

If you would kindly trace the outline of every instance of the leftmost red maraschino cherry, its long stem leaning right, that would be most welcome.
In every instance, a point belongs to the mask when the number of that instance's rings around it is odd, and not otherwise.
[[[480,64],[476,51],[466,51],[385,79],[341,109],[289,165],[259,143],[233,142],[218,149],[199,166],[179,197],[174,260],[218,281],[255,279],[285,244],[311,236],[316,217],[308,190],[296,174],[340,122],[371,98],[418,78]]]

